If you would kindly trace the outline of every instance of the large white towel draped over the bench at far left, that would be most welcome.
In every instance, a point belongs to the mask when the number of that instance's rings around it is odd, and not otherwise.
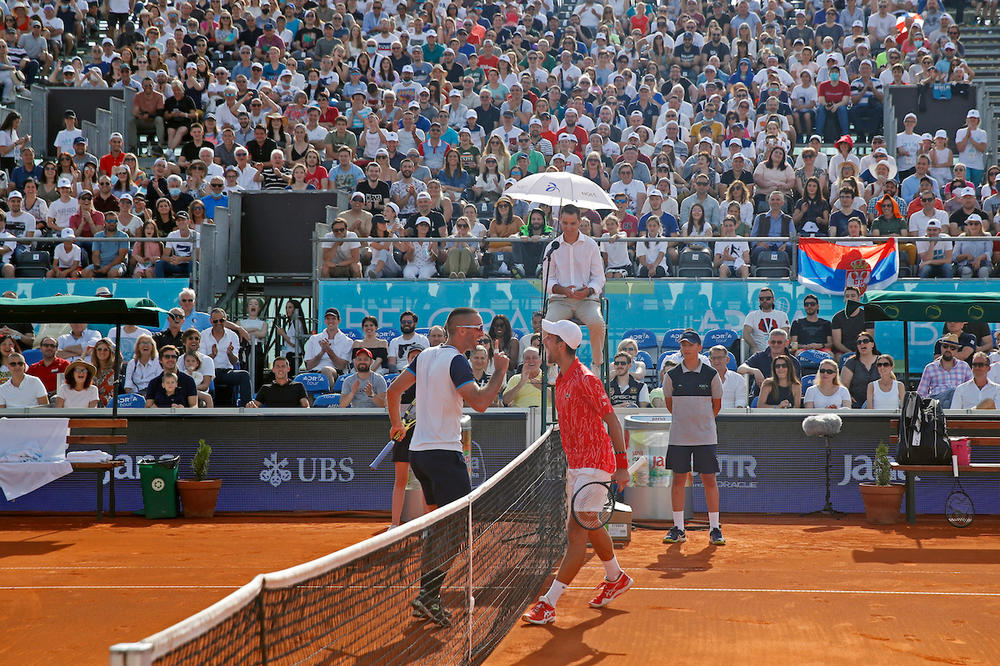
[[[73,471],[68,433],[69,419],[0,419],[0,489],[8,501]]]

